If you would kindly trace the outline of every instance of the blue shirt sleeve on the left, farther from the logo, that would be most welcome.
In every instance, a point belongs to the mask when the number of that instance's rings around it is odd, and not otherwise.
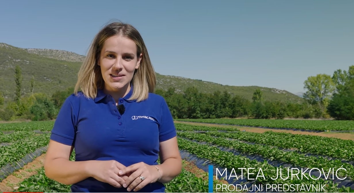
[[[59,110],[57,119],[55,120],[54,127],[50,139],[65,145],[72,146],[75,129],[76,129],[76,113],[69,96],[63,103]]]

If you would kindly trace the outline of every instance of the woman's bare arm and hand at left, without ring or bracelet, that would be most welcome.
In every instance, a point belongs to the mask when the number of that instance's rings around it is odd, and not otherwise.
[[[45,174],[59,183],[72,185],[93,177],[114,187],[122,187],[126,175],[118,175],[124,165],[115,160],[70,161],[71,146],[50,140],[44,163]]]

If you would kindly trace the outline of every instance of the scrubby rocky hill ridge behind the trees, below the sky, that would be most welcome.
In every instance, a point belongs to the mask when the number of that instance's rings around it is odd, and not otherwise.
[[[45,92],[51,96],[55,91],[74,87],[77,73],[85,56],[73,52],[50,49],[23,49],[0,43],[0,91],[5,99],[13,98],[15,85],[15,66],[22,70],[22,93],[30,92],[30,80],[35,80],[34,92]],[[202,92],[228,91],[232,95],[252,98],[256,89],[263,91],[265,100],[299,102],[302,99],[285,90],[259,86],[229,86],[208,81],[183,78],[156,73],[156,89],[167,90],[175,87],[178,92],[188,86],[195,86]]]

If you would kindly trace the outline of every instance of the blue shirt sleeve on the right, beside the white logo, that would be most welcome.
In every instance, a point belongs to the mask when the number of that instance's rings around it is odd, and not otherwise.
[[[160,125],[159,125],[160,142],[169,140],[177,136],[176,127],[175,124],[173,123],[173,117],[171,111],[167,106],[167,103],[164,98],[161,103],[160,117],[161,117]]]

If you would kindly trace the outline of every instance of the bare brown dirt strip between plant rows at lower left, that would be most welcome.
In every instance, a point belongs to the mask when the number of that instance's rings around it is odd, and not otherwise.
[[[13,192],[18,188],[18,184],[24,179],[37,174],[38,170],[43,166],[45,154],[35,158],[32,162],[23,166],[18,171],[13,172],[0,182],[0,193]]]

